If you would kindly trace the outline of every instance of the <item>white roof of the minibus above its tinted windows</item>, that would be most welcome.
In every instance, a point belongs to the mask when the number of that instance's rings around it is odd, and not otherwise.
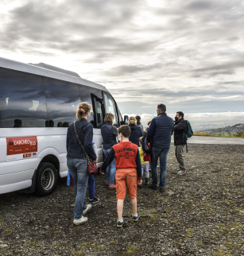
[[[53,69],[52,70],[48,69],[48,64],[46,64],[46,67],[47,68],[41,68],[36,64],[25,64],[15,60],[8,60],[6,58],[0,57],[0,68],[10,68],[10,69],[21,71],[21,72],[31,73],[38,76],[46,76],[46,77],[54,78],[57,80],[68,81],[71,83],[79,83],[79,84],[87,85],[89,87],[95,87],[97,89],[107,91],[107,88],[104,87],[103,85],[99,83],[91,82],[89,80],[84,80],[83,78],[79,77],[79,75],[75,72],[70,72],[68,74],[67,70],[51,66],[52,68],[56,68],[56,70],[58,70],[58,71],[54,71]]]

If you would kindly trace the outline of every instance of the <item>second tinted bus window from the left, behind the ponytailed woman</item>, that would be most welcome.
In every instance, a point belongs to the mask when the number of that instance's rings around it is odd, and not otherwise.
[[[76,83],[44,77],[48,127],[68,127],[76,120],[79,88]]]

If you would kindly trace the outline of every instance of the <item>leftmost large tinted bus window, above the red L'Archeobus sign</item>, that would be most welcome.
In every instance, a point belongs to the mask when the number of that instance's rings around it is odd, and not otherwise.
[[[41,76],[0,68],[2,128],[45,127],[47,109]]]

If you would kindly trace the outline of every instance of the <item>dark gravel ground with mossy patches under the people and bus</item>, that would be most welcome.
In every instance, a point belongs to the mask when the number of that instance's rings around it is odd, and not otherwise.
[[[166,192],[137,189],[141,218],[116,227],[115,192],[95,178],[101,202],[74,226],[74,186],[60,179],[51,196],[0,195],[1,255],[244,255],[244,146],[188,145],[186,176],[172,145]]]

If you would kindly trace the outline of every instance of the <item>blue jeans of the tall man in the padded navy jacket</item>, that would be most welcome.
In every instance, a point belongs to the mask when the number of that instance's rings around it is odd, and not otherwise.
[[[160,158],[160,188],[165,188],[165,180],[167,176],[167,158],[169,149],[157,149],[152,147],[152,184],[157,187],[157,160]]]

